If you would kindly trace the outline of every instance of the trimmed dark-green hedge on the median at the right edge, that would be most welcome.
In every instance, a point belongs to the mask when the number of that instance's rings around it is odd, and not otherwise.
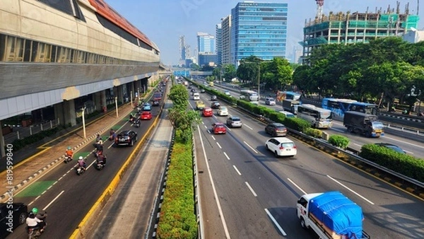
[[[369,161],[394,170],[407,177],[424,182],[424,161],[420,158],[398,153],[390,148],[365,144],[362,146],[359,156]]]

